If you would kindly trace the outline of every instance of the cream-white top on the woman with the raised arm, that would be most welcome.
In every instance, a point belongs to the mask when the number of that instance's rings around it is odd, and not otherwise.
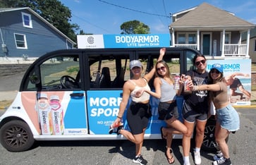
[[[145,78],[143,78],[145,80]],[[145,87],[139,87],[133,80],[130,80],[135,85],[135,89],[130,92],[130,97],[132,98],[133,102],[145,102],[150,99],[150,94],[147,92],[143,92],[143,94],[140,97],[135,97],[136,92],[140,90],[141,88],[146,88],[147,90],[150,90],[150,86],[147,84]],[[147,80],[145,80],[147,82]]]

